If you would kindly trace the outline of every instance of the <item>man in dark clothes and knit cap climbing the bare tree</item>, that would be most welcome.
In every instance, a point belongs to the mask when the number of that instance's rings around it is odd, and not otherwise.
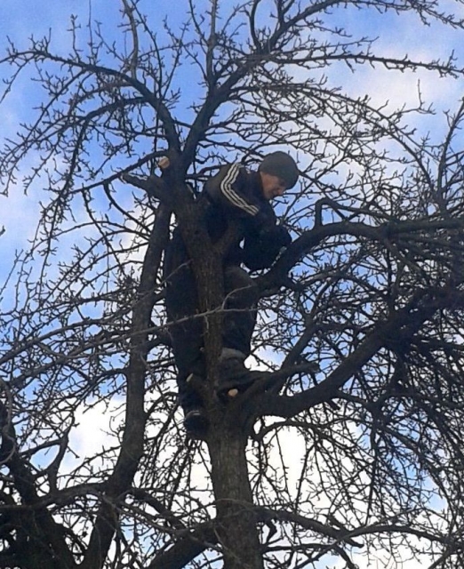
[[[169,166],[164,159],[162,168]],[[298,180],[298,167],[291,156],[274,152],[265,156],[257,172],[247,172],[240,164],[228,164],[207,180],[201,200],[204,222],[212,244],[218,244],[231,224],[238,229],[236,238],[223,251],[225,298],[222,309],[223,349],[219,361],[220,397],[235,397],[256,378],[244,360],[250,355],[252,332],[256,320],[258,291],[251,271],[268,268],[292,238],[279,225],[269,201],[282,196]],[[166,310],[172,322],[172,349],[178,368],[180,405],[184,424],[192,437],[201,437],[207,428],[204,405],[192,387],[196,378],[203,379],[203,322],[196,316],[198,301],[196,282],[180,228],[176,228],[166,248],[164,260]]]

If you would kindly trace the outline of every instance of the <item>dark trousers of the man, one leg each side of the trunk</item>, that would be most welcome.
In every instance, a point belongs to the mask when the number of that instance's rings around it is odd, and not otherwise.
[[[224,269],[224,316],[222,344],[248,356],[256,323],[258,289],[243,268]],[[178,368],[180,405],[184,411],[202,405],[201,398],[187,383],[190,373],[204,377],[204,318],[198,315],[195,276],[189,262],[166,277],[165,305],[170,321],[172,351]]]

